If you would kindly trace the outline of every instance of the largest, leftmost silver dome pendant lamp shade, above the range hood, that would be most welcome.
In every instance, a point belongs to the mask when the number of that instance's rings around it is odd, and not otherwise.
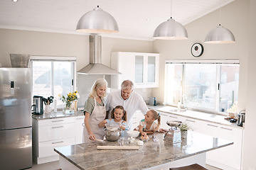
[[[117,33],[119,32],[117,21],[102,8],[97,6],[92,11],[83,15],[78,21],[76,30],[82,33]]]

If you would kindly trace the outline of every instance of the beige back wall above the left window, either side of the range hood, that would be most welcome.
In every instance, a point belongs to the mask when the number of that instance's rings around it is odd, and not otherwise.
[[[102,64],[110,67],[110,52],[152,52],[151,41],[102,37]],[[0,63],[11,67],[9,54],[75,56],[77,71],[89,64],[89,36],[0,29]]]

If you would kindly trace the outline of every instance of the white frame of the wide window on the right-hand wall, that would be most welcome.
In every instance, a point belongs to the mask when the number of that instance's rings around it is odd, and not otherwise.
[[[190,108],[191,110],[195,110],[195,111],[206,111],[208,113],[218,113],[223,115],[223,112],[218,111],[218,108],[220,107],[220,73],[221,73],[221,69],[220,69],[220,64],[240,64],[239,60],[166,60],[165,61],[165,83],[164,83],[164,91],[167,91],[167,79],[168,79],[168,68],[166,67],[166,64],[218,64],[217,65],[217,72],[216,72],[216,97],[215,97],[215,108],[214,111],[213,109],[210,108],[203,108],[198,106],[197,108]],[[186,65],[185,65],[186,67]],[[184,94],[184,88],[185,88],[185,83],[184,81],[184,76],[185,76],[185,67],[182,66],[182,72],[181,72],[181,96]],[[169,106],[178,106],[176,104],[170,104],[167,103],[167,93],[164,93],[164,105],[169,105]]]

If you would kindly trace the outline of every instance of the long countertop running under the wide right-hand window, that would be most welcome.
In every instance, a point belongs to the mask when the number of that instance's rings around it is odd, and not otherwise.
[[[185,112],[177,112],[174,111],[177,108],[172,107],[172,106],[149,106],[148,108],[155,109],[156,111],[161,111],[165,113],[171,113],[173,115],[181,115],[185,118],[193,118],[196,120],[203,120],[207,121],[209,123],[217,123],[220,125],[228,125],[233,128],[242,128],[241,126],[238,126],[237,123],[230,123],[230,121],[225,120],[226,116],[225,115],[218,115],[218,114],[213,114],[213,113],[206,113],[206,112],[201,112],[201,111],[191,111],[187,110]]]

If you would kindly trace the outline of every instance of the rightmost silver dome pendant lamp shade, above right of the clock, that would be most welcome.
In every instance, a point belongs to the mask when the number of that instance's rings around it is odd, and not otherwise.
[[[235,37],[230,30],[219,25],[206,35],[205,42],[212,44],[233,43],[235,42]]]

